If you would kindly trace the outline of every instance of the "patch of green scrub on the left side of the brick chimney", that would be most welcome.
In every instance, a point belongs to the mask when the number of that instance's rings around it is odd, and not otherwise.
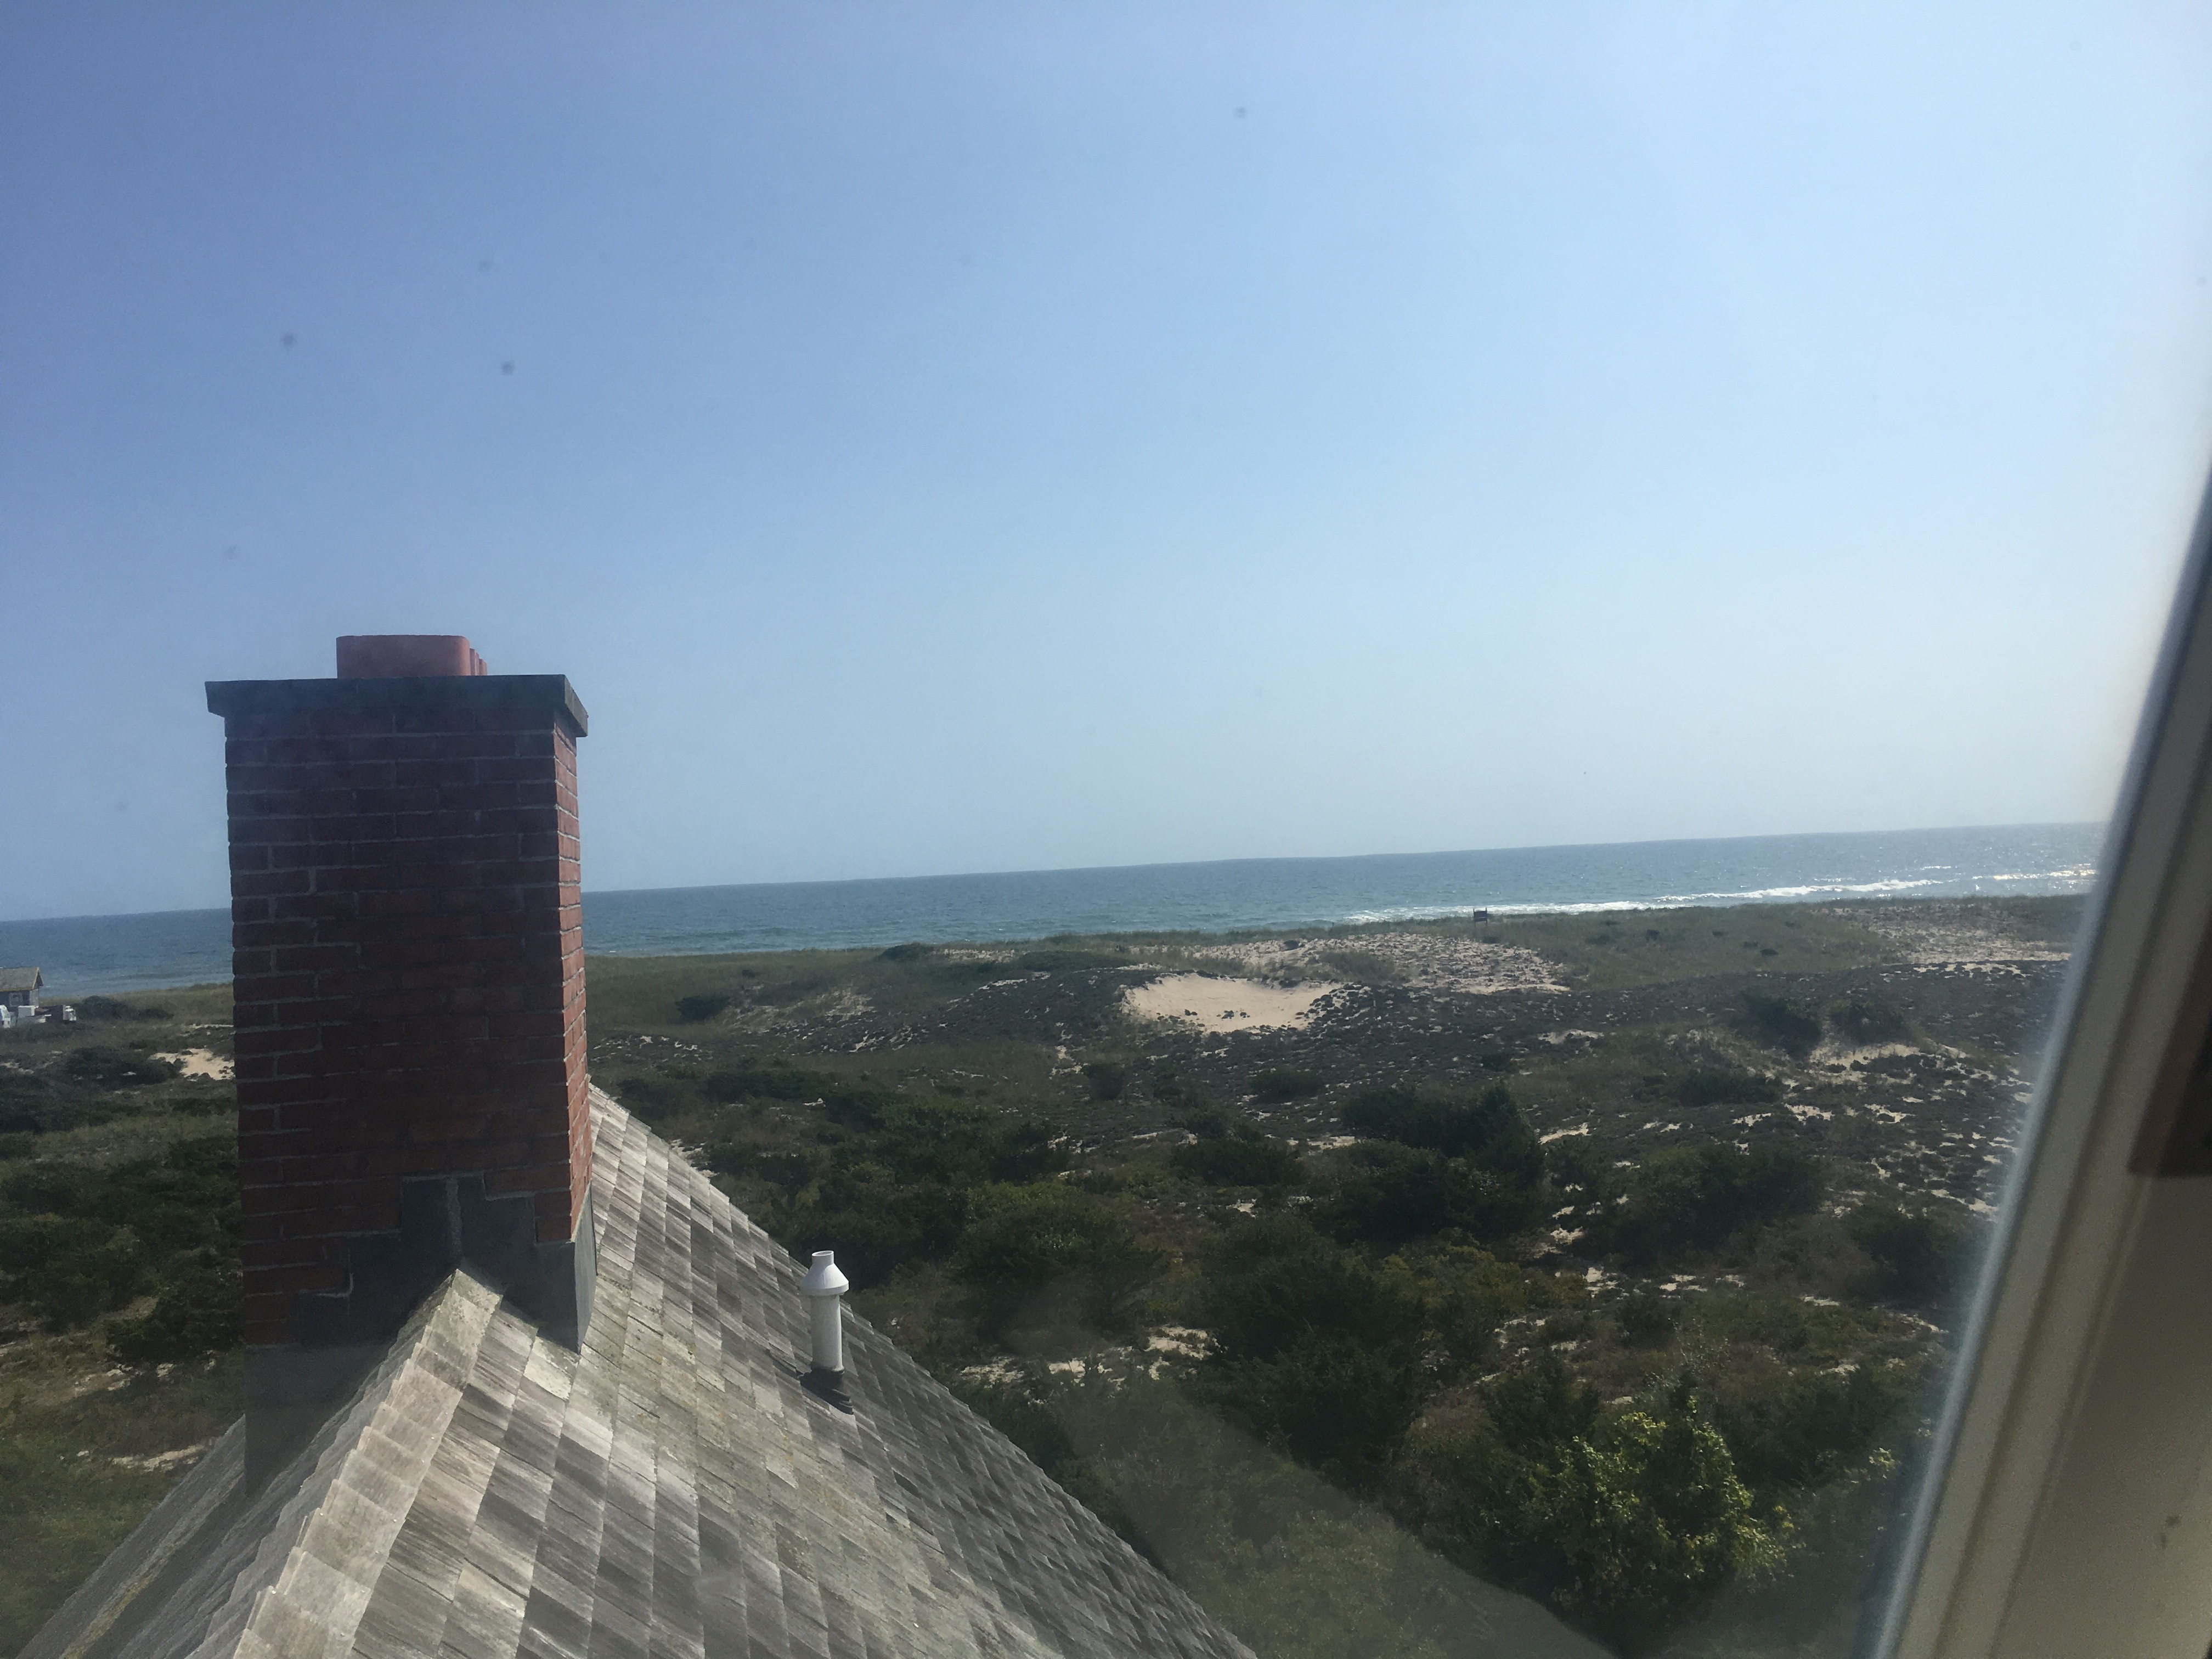
[[[230,995],[0,1033],[0,1652],[239,1416]]]

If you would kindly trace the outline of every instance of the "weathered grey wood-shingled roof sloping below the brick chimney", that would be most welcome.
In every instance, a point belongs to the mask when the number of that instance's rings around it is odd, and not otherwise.
[[[591,1095],[597,1301],[456,1270],[259,1489],[232,1429],[24,1650],[876,1659],[1245,1648],[865,1321],[801,1389],[799,1267]]]

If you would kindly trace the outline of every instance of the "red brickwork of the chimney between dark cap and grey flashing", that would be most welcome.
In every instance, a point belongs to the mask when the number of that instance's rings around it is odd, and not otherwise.
[[[566,1239],[588,1181],[575,739],[553,710],[274,710],[226,732],[248,1340],[290,1340],[409,1175]]]

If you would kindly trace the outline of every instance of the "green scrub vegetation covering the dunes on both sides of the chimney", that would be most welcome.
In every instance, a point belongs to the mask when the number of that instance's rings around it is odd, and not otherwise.
[[[595,958],[593,1075],[1270,1659],[1486,1652],[1515,1595],[1847,1652],[2055,964],[1922,971],[1851,907],[1378,931],[1237,1035],[1121,1004],[1237,938]],[[228,1009],[111,1002],[0,1040],[0,1646],[237,1409],[232,1095],[159,1057]]]

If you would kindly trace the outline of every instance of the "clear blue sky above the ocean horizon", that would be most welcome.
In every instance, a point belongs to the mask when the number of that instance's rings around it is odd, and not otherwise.
[[[2201,4],[0,9],[0,916],[201,681],[566,672],[588,887],[2095,818]]]

